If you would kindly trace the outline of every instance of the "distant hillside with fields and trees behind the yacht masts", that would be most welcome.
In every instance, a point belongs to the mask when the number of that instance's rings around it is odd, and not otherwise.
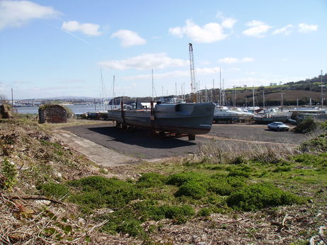
[[[323,85],[327,84],[327,74],[323,75]],[[270,84],[270,86],[255,87],[255,106],[263,105],[263,93],[265,92],[265,106],[279,106],[283,102],[284,106],[304,106],[309,104],[310,98],[312,105],[321,103],[321,76],[314,77],[313,79],[306,79],[301,81],[291,81],[286,84]],[[225,89],[226,105],[233,106],[233,94],[235,91],[236,106],[252,106],[253,105],[253,88],[251,87],[237,87],[235,89]],[[327,104],[327,92],[324,87],[324,105]],[[219,101],[219,89],[203,89],[199,92],[200,101]],[[182,96],[178,96],[182,97]],[[186,101],[192,101],[190,94],[185,95]],[[157,98],[155,98],[157,99]],[[115,98],[114,103],[120,104],[121,100],[126,104],[134,103],[135,101],[150,102],[152,97],[118,97]],[[112,104],[112,101],[110,101]]]

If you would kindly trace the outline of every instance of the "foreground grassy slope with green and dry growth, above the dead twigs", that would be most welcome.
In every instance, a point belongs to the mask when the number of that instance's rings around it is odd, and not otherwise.
[[[6,135],[0,137],[1,191],[10,191],[1,186],[1,181],[4,176],[6,179],[11,176],[12,190],[25,188],[26,193],[62,200],[67,203],[65,208],[76,207],[75,218],[103,224],[99,228],[103,232],[101,236],[123,234],[147,243],[166,224],[192,227],[207,222],[208,227],[219,232],[230,226],[228,222],[217,222],[215,217],[237,220],[239,215],[250,212],[248,219],[255,221],[261,219],[262,212],[287,209],[309,210],[316,217],[311,203],[317,208],[327,205],[326,133],[304,142],[299,149],[266,145],[244,149],[231,142],[230,151],[223,152],[220,142],[213,141],[204,145],[197,155],[158,164],[145,162],[134,166],[133,174],[125,175],[133,178],[119,179],[108,178],[106,171],[94,169],[86,159],[33,123],[2,121],[0,132]],[[135,178],[136,173],[141,174]],[[74,225],[58,221],[72,215],[60,217],[57,211],[44,210],[42,213],[53,214],[52,220],[57,217],[43,229],[42,234],[48,239],[59,231],[57,241],[60,242],[78,231]],[[233,231],[230,228],[229,232]],[[312,229],[299,239],[308,239]],[[257,239],[256,230],[251,228],[246,234]]]

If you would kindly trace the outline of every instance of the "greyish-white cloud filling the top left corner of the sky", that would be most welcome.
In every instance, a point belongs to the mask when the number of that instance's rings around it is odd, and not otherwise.
[[[51,6],[41,6],[31,1],[0,1],[0,30],[20,27],[33,19],[54,18],[59,11]]]

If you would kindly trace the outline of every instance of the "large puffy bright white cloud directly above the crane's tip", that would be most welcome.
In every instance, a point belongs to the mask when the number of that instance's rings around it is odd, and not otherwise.
[[[231,25],[231,24],[230,24]],[[194,24],[191,20],[185,21],[185,25],[182,27],[170,28],[169,32],[171,35],[182,38],[186,35],[195,42],[217,42],[219,40],[226,39],[227,34],[223,33],[223,26],[218,23],[207,23],[203,27]]]

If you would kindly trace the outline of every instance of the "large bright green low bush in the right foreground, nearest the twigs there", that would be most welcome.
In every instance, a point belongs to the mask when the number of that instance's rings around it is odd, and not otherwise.
[[[271,184],[257,183],[232,193],[226,203],[235,210],[253,211],[265,207],[304,203],[304,199]]]

